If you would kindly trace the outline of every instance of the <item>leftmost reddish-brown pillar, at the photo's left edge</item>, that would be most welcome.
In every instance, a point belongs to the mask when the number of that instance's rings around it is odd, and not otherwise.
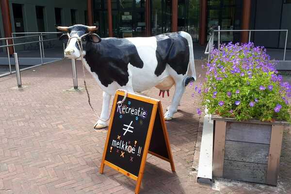
[[[0,0],[1,3],[1,13],[2,13],[2,22],[4,28],[4,36],[5,38],[12,37],[12,25],[10,19],[10,10],[9,10],[9,1],[8,0]],[[12,39],[8,40],[8,44],[12,44]],[[9,47],[9,53],[13,54],[13,47]]]

